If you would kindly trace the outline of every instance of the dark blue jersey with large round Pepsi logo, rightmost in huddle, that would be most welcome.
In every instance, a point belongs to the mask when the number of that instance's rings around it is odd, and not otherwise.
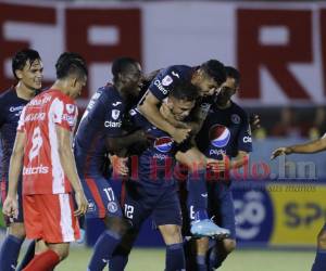
[[[251,152],[252,140],[247,113],[234,102],[225,109],[213,105],[196,141],[205,156],[215,159],[221,159],[222,154],[235,157],[239,151]]]

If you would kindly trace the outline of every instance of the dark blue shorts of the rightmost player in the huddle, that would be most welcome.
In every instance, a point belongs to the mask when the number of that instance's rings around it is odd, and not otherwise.
[[[236,238],[236,218],[230,184],[224,181],[209,182],[209,216],[220,227],[230,231],[230,238]]]

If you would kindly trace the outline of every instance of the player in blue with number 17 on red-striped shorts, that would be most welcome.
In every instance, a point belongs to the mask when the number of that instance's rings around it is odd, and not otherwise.
[[[127,112],[136,104],[141,81],[140,64],[120,57],[112,64],[113,83],[91,98],[74,142],[78,175],[89,202],[86,218],[103,219],[106,230],[98,238],[89,271],[102,270],[120,243],[128,223],[105,175],[109,154],[124,156],[124,150],[143,139],[143,132],[128,133]]]

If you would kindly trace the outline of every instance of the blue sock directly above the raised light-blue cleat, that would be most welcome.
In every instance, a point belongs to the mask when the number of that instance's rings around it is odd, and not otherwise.
[[[206,189],[206,170],[195,170],[188,173],[188,209],[191,220],[206,219],[208,208],[208,189]],[[192,208],[191,208],[192,207]]]

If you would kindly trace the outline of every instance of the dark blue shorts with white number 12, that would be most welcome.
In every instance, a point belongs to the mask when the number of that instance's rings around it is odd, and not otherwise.
[[[139,182],[124,183],[122,203],[124,214],[134,229],[152,216],[156,227],[163,224],[181,225],[181,210],[176,185],[149,188]]]

